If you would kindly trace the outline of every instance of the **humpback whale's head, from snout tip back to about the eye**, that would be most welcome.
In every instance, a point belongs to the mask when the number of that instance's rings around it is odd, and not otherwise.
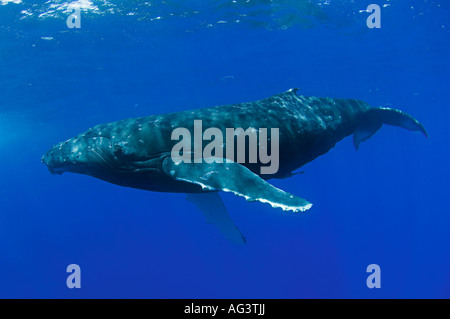
[[[79,135],[53,146],[41,161],[52,174],[79,173],[101,178],[117,168],[108,137]]]

